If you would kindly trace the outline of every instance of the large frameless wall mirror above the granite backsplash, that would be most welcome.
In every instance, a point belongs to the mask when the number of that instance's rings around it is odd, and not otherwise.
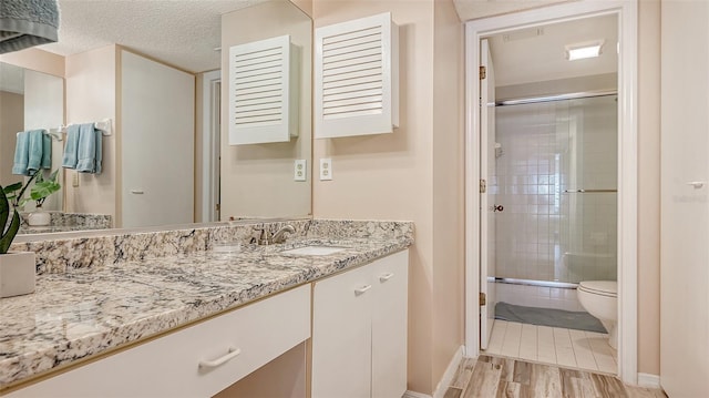
[[[7,170],[18,132],[107,121],[110,133],[100,174],[62,169],[66,129],[55,134],[62,188],[48,210],[64,225],[24,233],[83,229],[65,222],[71,215],[105,215],[120,228],[311,215],[312,21],[301,9],[288,0],[59,4],[58,43],[0,55],[0,184],[21,178]],[[229,145],[229,48],[281,35],[297,50],[298,134]],[[31,93],[38,86],[53,91]],[[40,105],[52,111],[28,119]],[[307,163],[305,181],[296,161]]]

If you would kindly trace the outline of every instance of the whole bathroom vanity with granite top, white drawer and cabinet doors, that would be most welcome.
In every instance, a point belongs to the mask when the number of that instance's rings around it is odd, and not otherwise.
[[[0,394],[210,397],[307,346],[291,396],[401,396],[412,226],[338,223],[227,251],[207,229],[206,251],[39,275],[34,295],[0,300]]]

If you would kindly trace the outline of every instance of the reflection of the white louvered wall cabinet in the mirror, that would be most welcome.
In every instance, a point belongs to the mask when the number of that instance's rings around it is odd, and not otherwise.
[[[289,35],[229,48],[229,145],[298,135],[295,52]]]

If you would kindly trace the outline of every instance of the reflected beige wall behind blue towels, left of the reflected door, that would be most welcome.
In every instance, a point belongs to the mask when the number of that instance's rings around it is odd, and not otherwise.
[[[66,57],[66,122],[113,120],[114,134],[103,140],[103,172],[79,173],[79,186],[71,186],[74,171],[68,170],[66,212],[111,214],[116,220],[116,45]]]

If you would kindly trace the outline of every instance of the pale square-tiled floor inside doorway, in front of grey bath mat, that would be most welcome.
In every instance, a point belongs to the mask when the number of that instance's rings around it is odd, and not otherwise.
[[[496,319],[485,354],[566,368],[618,373],[608,335]]]

